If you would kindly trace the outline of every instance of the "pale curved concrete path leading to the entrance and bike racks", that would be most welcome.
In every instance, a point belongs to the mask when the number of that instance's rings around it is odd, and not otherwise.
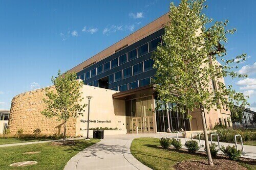
[[[125,134],[125,135],[109,135],[105,136],[103,140],[92,145],[89,148],[84,149],[77,155],[72,157],[64,170],[73,169],[151,169],[138,160],[136,160],[130,152],[132,140],[138,137],[169,137],[176,138],[176,133],[157,133],[157,134]],[[185,140],[181,138],[183,148]],[[190,139],[186,139],[190,140]],[[199,140],[197,140],[199,142]],[[201,140],[201,145],[204,141]],[[234,143],[223,143],[220,145],[234,145]],[[238,149],[241,149],[241,145],[238,145]],[[244,145],[245,153],[242,157],[256,159],[256,147],[250,145]],[[200,151],[204,151],[200,148]],[[221,151],[219,152],[220,154]]]

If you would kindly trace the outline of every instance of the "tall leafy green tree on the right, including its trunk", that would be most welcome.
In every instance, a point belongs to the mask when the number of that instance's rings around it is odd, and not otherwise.
[[[203,8],[207,8],[204,2],[182,0],[178,7],[170,4],[170,21],[162,37],[164,45],[157,47],[153,59],[159,99],[187,108],[187,118],[191,118],[190,113],[195,109],[200,110],[208,164],[213,165],[205,113],[212,108],[220,109],[222,104],[229,109],[234,103],[245,106],[243,93],[237,93],[231,85],[226,88],[221,80],[226,76],[232,79],[246,76],[234,71],[234,59],[225,59],[225,48],[221,45],[227,42],[226,34],[236,30],[225,29],[228,20],[212,23],[212,19],[202,14]],[[245,60],[245,57],[242,54],[236,58]]]

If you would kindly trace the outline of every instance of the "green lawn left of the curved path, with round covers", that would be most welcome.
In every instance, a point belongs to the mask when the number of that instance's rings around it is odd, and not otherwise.
[[[62,170],[70,158],[98,141],[99,139],[75,140],[76,144],[72,146],[50,145],[51,143],[49,142],[4,147],[0,149],[0,169]],[[31,151],[41,151],[41,153],[23,154]],[[24,167],[9,166],[12,163],[21,161],[37,161],[38,163]]]

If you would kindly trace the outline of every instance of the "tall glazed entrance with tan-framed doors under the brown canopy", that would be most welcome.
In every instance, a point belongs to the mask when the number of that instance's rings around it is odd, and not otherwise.
[[[125,101],[127,133],[154,133],[152,96]]]

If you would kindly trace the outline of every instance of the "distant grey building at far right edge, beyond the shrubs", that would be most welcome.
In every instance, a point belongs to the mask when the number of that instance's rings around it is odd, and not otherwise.
[[[250,110],[250,108],[244,109],[242,122],[233,123],[234,128],[256,128],[256,123],[253,123],[253,116],[256,112]]]

